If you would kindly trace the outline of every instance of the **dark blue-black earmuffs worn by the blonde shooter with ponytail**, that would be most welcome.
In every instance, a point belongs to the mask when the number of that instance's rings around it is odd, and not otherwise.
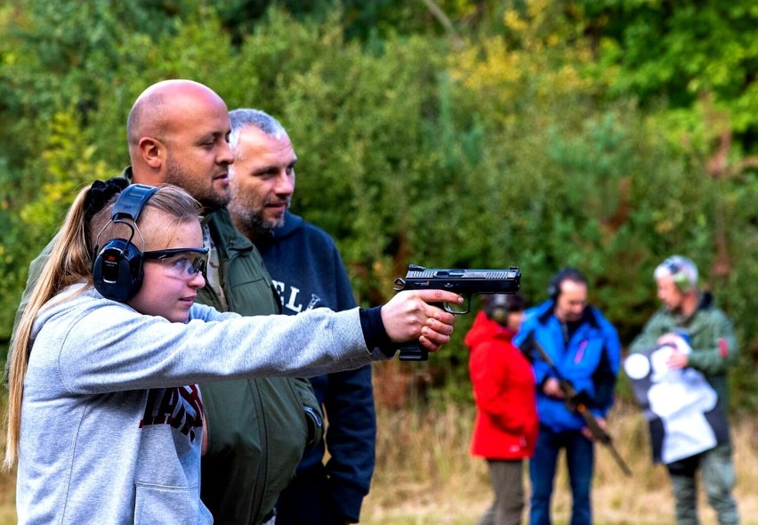
[[[131,234],[128,239],[111,238],[102,248],[95,246],[94,287],[107,299],[124,303],[140,291],[142,252],[132,244],[132,239],[142,208],[156,191],[153,186],[132,184],[121,192],[113,206],[110,222],[125,224]]]

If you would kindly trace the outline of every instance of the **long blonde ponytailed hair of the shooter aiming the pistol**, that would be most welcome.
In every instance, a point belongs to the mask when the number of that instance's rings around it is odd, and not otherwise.
[[[98,244],[98,238],[111,238],[112,227],[117,226],[110,221],[110,212],[116,204],[117,196],[109,200],[103,209],[95,213],[87,222],[85,202],[91,187],[81,190],[69,208],[69,213],[63,222],[58,237],[52,245],[52,250],[44,263],[39,279],[36,280],[26,310],[22,313],[19,324],[12,337],[9,359],[11,366],[8,381],[8,411],[6,415],[6,440],[4,467],[11,468],[16,462],[19,450],[21,401],[23,400],[24,378],[28,369],[28,358],[31,353],[32,327],[40,311],[52,304],[61,303],[85,289],[93,287],[93,251]],[[178,186],[165,184],[160,186],[144,206],[138,224],[155,221],[157,214],[163,212],[175,219],[176,224],[198,221],[202,211],[198,201],[192,198],[186,190]],[[147,218],[146,218],[147,217]],[[135,224],[135,227],[137,225]],[[123,226],[122,226],[123,228]],[[165,223],[155,231],[165,230]],[[144,249],[142,247],[141,249]],[[67,287],[85,282],[85,287],[77,291],[62,293]]]

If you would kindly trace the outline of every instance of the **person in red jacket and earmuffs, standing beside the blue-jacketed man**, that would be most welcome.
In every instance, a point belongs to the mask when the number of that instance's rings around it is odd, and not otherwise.
[[[538,421],[531,364],[511,343],[523,311],[521,295],[488,295],[465,337],[477,408],[471,452],[487,459],[495,491],[478,525],[519,525],[524,509],[523,463]]]

